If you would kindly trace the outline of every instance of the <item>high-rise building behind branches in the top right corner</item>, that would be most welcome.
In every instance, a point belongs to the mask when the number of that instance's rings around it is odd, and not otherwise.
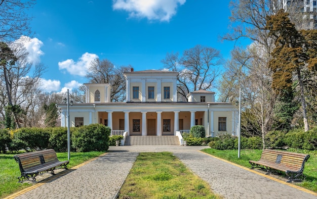
[[[284,9],[298,29],[317,29],[317,1],[277,0],[272,1],[275,12]]]

